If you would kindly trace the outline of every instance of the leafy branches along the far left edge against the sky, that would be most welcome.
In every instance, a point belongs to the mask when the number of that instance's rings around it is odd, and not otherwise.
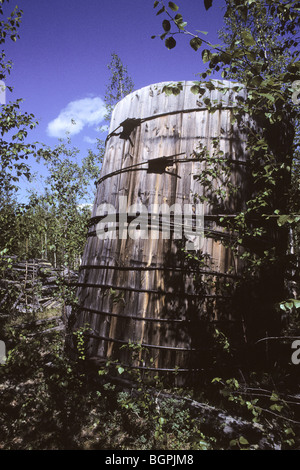
[[[2,1],[0,15],[4,16]],[[0,44],[4,45],[9,38],[16,41],[18,28],[21,22],[22,11],[16,7],[11,15],[3,18],[0,23]],[[6,61],[5,51],[0,54],[0,78],[6,80],[10,74],[12,64]],[[11,87],[6,89],[11,91]],[[8,94],[6,94],[8,99]],[[15,237],[18,219],[22,212],[22,206],[16,200],[16,190],[21,178],[30,180],[31,168],[28,164],[29,157],[36,155],[34,144],[26,143],[28,130],[36,126],[32,114],[21,111],[22,100],[1,105],[0,109],[0,257],[8,251],[16,249]]]

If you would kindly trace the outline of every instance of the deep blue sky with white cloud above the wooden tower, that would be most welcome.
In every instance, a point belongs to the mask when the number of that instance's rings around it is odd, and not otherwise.
[[[109,79],[107,64],[116,52],[127,66],[135,89],[161,81],[194,80],[204,70],[196,53],[181,37],[168,50],[152,35],[161,34],[163,15],[156,16],[153,0],[10,0],[24,11],[20,39],[7,41],[13,62],[7,100],[23,98],[23,110],[39,121],[30,140],[54,146],[70,130],[84,156],[103,137],[103,98]],[[167,2],[166,2],[167,3]],[[207,31],[218,43],[223,0],[205,11],[203,0],[178,0],[188,29]],[[70,125],[74,119],[76,126]]]

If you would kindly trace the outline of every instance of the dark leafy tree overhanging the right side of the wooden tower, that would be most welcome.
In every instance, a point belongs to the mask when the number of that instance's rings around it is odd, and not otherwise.
[[[295,197],[299,188],[299,107],[295,97],[295,84],[300,77],[299,4],[226,0],[225,28],[220,33],[223,45],[213,45],[188,31],[180,13],[174,16],[164,1],[159,3],[175,28],[168,31],[166,41],[175,35],[187,36],[190,46],[201,50],[203,63],[208,67],[202,73],[203,79],[218,72],[223,78],[238,80],[248,91],[246,99],[236,103],[233,122],[248,136],[247,178],[251,194],[235,218],[225,217],[220,223],[232,234],[231,248],[236,253],[242,249],[241,258],[245,261],[245,279],[236,285],[235,306],[247,320],[248,341],[271,331],[279,334],[281,320],[276,305],[284,302],[286,296],[291,297],[292,286],[295,295],[293,276],[296,278],[292,273],[299,266],[300,208],[299,198]],[[204,5],[209,9],[212,2],[205,1]],[[175,47],[176,42],[173,44]],[[212,86],[211,82],[195,82],[191,91],[201,98],[205,87]],[[218,85],[214,87],[226,91]],[[172,92],[172,88],[165,92]],[[210,112],[216,111],[209,99],[204,104]],[[245,113],[250,118],[247,122],[242,119]],[[207,160],[207,155],[204,152],[199,158]],[[226,162],[223,167],[220,162],[217,166],[212,162],[206,173],[199,175],[206,192],[217,177],[228,179],[228,171],[231,169]],[[211,192],[208,197],[216,210],[224,198],[219,194],[216,201],[217,196]],[[293,253],[288,252],[289,230]]]

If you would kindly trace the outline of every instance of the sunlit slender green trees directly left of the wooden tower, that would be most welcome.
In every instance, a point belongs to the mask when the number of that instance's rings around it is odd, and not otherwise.
[[[88,203],[102,156],[90,151],[79,160],[78,150],[70,147],[70,142],[61,142],[54,149],[39,151],[39,157],[49,176],[44,194],[31,194],[25,215],[25,225],[30,220],[32,224],[30,249],[42,250],[54,266],[74,268],[83,253],[91,213]]]

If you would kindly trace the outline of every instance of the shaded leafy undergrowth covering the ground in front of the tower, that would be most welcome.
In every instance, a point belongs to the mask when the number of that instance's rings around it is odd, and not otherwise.
[[[166,388],[159,377],[109,361],[95,368],[76,333],[77,358],[64,336],[15,332],[0,367],[1,449],[213,450],[259,449],[242,433],[223,436],[193,409],[198,400],[262,425],[283,449],[299,448],[297,398],[278,391],[270,374],[202,377],[191,389]],[[134,349],[135,348],[135,349]],[[136,352],[138,345],[132,349]]]

